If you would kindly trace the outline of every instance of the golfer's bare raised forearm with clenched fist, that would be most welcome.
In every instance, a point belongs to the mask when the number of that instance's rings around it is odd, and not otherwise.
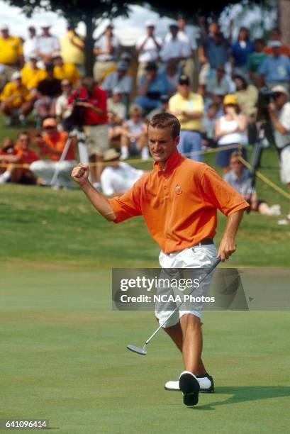
[[[116,220],[116,216],[113,213],[113,209],[111,208],[108,199],[106,199],[103,194],[99,193],[99,191],[96,191],[89,182],[88,165],[79,163],[79,165],[74,167],[74,169],[72,169],[72,178],[77,182],[77,184],[79,184],[79,187],[81,187],[84,194],[86,194],[91,204],[96,208],[96,211],[98,211],[101,216],[106,218],[108,221]]]

